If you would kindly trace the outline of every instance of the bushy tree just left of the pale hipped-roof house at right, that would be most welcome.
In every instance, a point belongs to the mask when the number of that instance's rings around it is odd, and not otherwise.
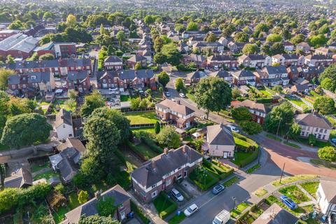
[[[272,111],[267,113],[264,121],[264,127],[267,132],[286,133],[293,124],[294,111],[289,102],[284,102],[279,106],[274,106]]]

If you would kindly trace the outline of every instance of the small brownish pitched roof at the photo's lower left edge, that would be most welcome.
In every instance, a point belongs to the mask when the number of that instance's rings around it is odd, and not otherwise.
[[[22,167],[13,176],[5,179],[5,188],[21,188],[25,185],[32,185],[33,177],[28,169]]]

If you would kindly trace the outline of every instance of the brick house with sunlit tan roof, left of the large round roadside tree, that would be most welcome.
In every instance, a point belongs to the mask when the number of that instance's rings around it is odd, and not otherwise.
[[[188,106],[174,102],[170,99],[165,99],[162,102],[155,104],[156,116],[161,120],[171,121],[179,128],[188,128],[195,119],[195,111]]]

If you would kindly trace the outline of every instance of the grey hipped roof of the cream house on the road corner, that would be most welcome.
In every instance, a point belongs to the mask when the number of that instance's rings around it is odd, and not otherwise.
[[[207,126],[207,139],[210,145],[236,145],[231,130],[225,125]]]

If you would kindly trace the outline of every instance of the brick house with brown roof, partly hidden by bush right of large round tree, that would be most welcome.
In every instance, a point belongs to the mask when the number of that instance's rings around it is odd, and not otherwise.
[[[266,117],[266,109],[264,104],[258,104],[251,101],[250,99],[246,99],[243,102],[235,104],[235,106],[246,107],[248,111],[250,111],[253,121],[259,123],[260,125],[264,123],[264,119]]]

